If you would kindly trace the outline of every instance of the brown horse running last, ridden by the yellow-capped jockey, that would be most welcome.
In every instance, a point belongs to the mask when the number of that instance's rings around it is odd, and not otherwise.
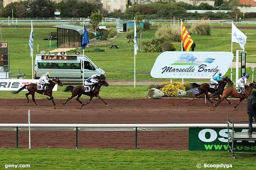
[[[52,80],[49,80],[49,82],[50,82],[50,84],[48,84],[46,86],[45,93],[43,93],[43,90],[37,90],[37,84],[35,84],[35,83],[24,85],[18,91],[11,91],[11,93],[17,94],[20,91],[22,91],[24,89],[27,89],[28,90],[28,93],[26,93],[27,100],[28,100],[28,95],[32,95],[32,100],[33,100],[33,102],[35,103],[36,106],[37,106],[37,103],[35,102],[35,92],[37,92],[37,93],[39,93],[41,95],[49,96],[50,98],[46,97],[46,99],[52,100],[54,108],[56,109],[56,107],[55,107],[56,104],[55,104],[55,102],[53,100],[53,96],[52,96],[52,89],[54,88],[54,86],[56,84],[58,84],[59,86],[63,86],[63,84],[62,84],[62,82],[57,77],[55,77]],[[29,100],[27,101],[27,103],[28,102],[29,102]]]

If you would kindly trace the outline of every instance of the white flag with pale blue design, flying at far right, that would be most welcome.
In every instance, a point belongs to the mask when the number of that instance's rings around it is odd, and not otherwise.
[[[247,36],[240,31],[232,22],[232,42],[239,43],[241,49],[245,48]]]

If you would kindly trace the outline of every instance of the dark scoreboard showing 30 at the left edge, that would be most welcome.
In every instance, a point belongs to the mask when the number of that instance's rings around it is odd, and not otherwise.
[[[0,42],[0,79],[9,78],[8,42]]]

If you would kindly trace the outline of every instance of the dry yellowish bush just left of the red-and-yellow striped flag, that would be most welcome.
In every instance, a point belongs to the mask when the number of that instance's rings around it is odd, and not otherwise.
[[[170,41],[180,41],[180,26],[161,26],[155,33],[157,38],[167,38]]]

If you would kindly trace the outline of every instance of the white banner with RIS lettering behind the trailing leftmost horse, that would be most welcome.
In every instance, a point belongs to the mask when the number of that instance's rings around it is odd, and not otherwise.
[[[38,83],[38,79],[0,79],[0,91],[11,91],[11,90],[19,90],[26,84]],[[56,84],[52,91],[57,91],[58,85]],[[26,90],[26,89],[24,89]]]

